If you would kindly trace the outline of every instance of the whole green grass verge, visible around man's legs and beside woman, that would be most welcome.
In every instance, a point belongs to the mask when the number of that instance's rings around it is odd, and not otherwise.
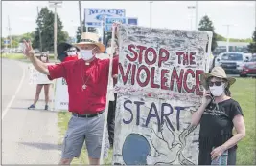
[[[255,83],[256,79],[252,78],[237,78],[237,82],[232,85],[232,97],[237,100],[244,113],[244,122],[246,126],[246,136],[238,145],[237,164],[238,165],[254,165],[255,164]],[[67,124],[70,118],[69,113],[58,114],[58,127],[60,128],[61,142],[62,137],[67,129]],[[112,150],[109,152],[105,164],[111,164]],[[84,149],[81,153],[81,158],[74,159],[72,164],[88,164],[87,153]]]

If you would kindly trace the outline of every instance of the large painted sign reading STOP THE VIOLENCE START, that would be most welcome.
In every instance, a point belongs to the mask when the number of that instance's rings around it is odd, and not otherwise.
[[[212,33],[127,25],[118,33],[113,164],[198,164],[198,128],[190,121]]]

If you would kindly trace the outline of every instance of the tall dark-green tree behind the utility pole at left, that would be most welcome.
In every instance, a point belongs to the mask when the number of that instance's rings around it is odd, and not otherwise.
[[[41,45],[42,51],[53,51],[54,50],[54,20],[55,14],[48,10],[48,8],[42,8],[37,16],[35,29],[35,36],[33,40],[33,47],[40,48],[40,37],[41,33]],[[68,34],[66,31],[62,31],[62,22],[57,15],[57,42],[66,42]]]

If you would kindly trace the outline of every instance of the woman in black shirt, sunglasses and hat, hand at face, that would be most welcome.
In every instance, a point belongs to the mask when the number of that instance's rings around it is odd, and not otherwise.
[[[235,165],[237,143],[245,136],[242,109],[229,91],[236,79],[221,67],[202,73],[200,79],[206,92],[192,116],[192,126],[200,124],[198,165]]]

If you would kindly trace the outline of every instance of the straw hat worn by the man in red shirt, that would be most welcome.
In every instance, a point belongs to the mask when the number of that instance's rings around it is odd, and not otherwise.
[[[99,47],[100,52],[105,52],[105,45],[99,42],[100,37],[96,33],[83,32],[81,34],[81,40],[79,43],[74,44],[75,46],[81,47],[81,45],[96,45]]]

